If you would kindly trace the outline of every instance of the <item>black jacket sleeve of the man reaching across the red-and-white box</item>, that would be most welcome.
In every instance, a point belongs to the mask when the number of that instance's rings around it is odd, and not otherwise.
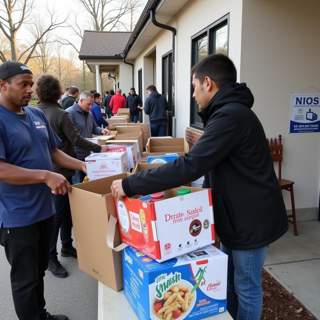
[[[239,131],[237,121],[232,116],[218,114],[208,122],[202,137],[184,156],[124,178],[124,193],[127,196],[147,195],[177,188],[200,178],[238,146],[241,137]]]

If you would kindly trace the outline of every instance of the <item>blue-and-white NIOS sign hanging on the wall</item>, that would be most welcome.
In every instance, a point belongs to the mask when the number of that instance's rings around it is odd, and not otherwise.
[[[292,93],[289,133],[320,132],[320,93]]]

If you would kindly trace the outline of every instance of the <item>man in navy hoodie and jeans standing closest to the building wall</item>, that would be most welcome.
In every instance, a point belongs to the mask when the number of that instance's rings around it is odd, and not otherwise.
[[[144,102],[144,112],[149,115],[151,137],[165,137],[167,135],[168,101],[163,94],[157,92],[154,85],[146,89],[148,98]]]

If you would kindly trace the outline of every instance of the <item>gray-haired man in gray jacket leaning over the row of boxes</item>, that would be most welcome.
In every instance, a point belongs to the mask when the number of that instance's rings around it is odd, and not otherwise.
[[[72,107],[66,109],[69,112],[76,129],[84,138],[92,138],[92,134],[101,135],[109,134],[108,129],[101,129],[95,123],[92,113],[89,112],[93,104],[93,94],[89,91],[84,91],[80,94],[80,99],[75,102]],[[75,148],[77,159],[84,161],[89,156],[90,151],[81,148]],[[72,183],[81,183],[84,180],[84,173],[77,170],[76,175],[72,177]]]

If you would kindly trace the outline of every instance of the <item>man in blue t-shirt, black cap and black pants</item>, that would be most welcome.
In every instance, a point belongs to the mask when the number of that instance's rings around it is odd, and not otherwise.
[[[33,76],[17,61],[0,65],[0,244],[11,265],[14,307],[20,320],[68,320],[45,307],[44,281],[54,227],[54,194],[71,191],[52,163],[83,170],[85,164],[57,146],[61,140],[44,113],[27,107]]]

